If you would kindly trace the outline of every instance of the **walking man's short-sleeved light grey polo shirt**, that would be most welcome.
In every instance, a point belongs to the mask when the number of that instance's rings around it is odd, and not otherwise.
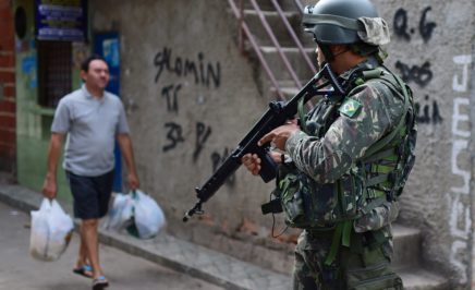
[[[105,92],[95,98],[83,85],[60,100],[51,132],[68,133],[65,170],[97,177],[113,169],[115,136],[129,133],[129,125],[118,96]]]

